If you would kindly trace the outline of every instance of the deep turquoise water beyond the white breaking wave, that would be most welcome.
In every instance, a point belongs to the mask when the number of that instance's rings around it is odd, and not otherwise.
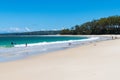
[[[42,42],[56,42],[56,41],[68,41],[68,40],[80,40],[87,37],[73,37],[73,36],[0,36],[0,47],[13,47],[19,44],[31,44]]]

